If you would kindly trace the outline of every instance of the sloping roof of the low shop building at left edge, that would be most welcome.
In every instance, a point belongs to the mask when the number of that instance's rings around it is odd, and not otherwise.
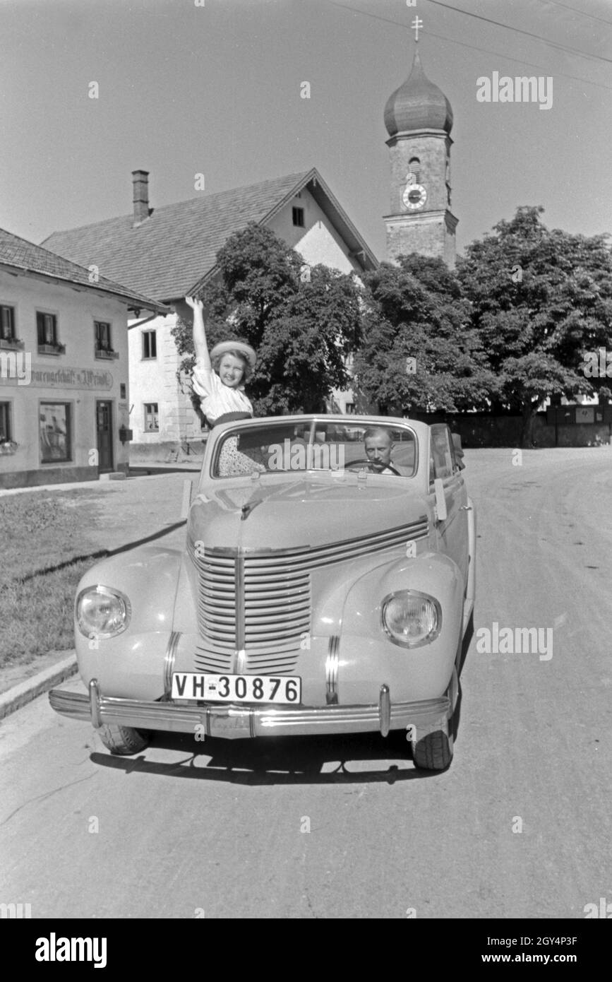
[[[87,290],[97,293],[111,294],[119,300],[125,300],[131,309],[154,310],[159,313],[166,313],[166,307],[156,300],[149,300],[148,297],[133,290],[128,290],[119,283],[107,280],[100,276],[95,282],[91,281],[91,274],[88,269],[83,269],[76,262],[71,262],[61,255],[50,251],[43,246],[35,246],[34,243],[21,239],[20,236],[0,229],[0,267],[19,269],[24,273],[35,273],[38,276],[48,276],[53,280],[63,280],[69,284],[77,284]]]

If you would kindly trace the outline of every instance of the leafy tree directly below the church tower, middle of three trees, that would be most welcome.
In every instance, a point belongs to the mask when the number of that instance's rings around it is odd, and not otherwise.
[[[411,253],[366,277],[355,386],[391,415],[486,405],[494,376],[469,304],[441,259]]]

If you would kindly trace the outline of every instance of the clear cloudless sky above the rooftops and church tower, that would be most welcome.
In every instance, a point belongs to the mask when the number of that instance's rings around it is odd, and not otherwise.
[[[612,0],[0,0],[0,225],[40,242],[128,214],[136,168],[154,207],[315,166],[384,258],[383,108],[416,15],[459,251],[521,204],[612,232]],[[479,102],[493,72],[552,77],[552,107]]]

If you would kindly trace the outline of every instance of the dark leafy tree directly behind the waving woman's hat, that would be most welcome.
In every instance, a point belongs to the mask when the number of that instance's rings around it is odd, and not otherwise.
[[[256,415],[318,412],[350,378],[347,355],[361,337],[360,292],[352,274],[307,267],[269,229],[251,222],[217,253],[219,275],[202,292],[212,348],[231,338],[258,354],[248,382]],[[180,372],[193,365],[191,324],[173,331]],[[199,407],[197,397],[194,406]]]

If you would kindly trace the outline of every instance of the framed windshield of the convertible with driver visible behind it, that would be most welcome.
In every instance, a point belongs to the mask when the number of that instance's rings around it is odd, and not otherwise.
[[[412,477],[415,467],[416,437],[408,427],[280,419],[224,433],[216,447],[212,476],[364,470],[384,477]]]

